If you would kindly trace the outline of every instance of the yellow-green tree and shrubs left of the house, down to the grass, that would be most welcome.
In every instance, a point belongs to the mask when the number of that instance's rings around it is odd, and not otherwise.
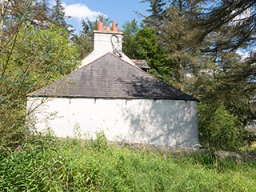
[[[78,52],[65,29],[34,29],[22,24],[0,52],[0,144],[26,135],[26,94],[46,86],[78,66]]]

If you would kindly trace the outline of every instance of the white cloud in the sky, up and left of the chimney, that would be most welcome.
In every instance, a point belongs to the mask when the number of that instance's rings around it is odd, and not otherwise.
[[[66,5],[63,3],[63,6],[65,8],[65,15],[71,18],[76,18],[79,21],[82,20],[82,18],[88,18],[89,20],[95,20],[99,14],[102,14],[101,12],[90,10],[88,6],[77,3],[72,5]]]

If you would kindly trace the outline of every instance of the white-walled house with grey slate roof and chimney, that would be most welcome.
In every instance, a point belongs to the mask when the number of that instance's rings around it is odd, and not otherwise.
[[[103,132],[113,142],[196,146],[196,98],[147,74],[145,61],[122,53],[122,35],[114,22],[112,29],[98,22],[94,51],[80,68],[27,95],[35,128],[60,138]]]

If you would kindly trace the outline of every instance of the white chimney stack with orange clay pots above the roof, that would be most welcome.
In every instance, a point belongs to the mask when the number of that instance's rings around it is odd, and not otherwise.
[[[115,21],[112,27],[104,29],[104,23],[98,21],[98,28],[94,30],[94,52],[106,53],[110,52],[122,57],[122,32],[118,31]]]

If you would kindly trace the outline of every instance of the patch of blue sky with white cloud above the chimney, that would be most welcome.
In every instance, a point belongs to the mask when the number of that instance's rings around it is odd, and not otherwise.
[[[89,18],[94,21],[98,14],[104,14],[110,20],[118,23],[118,28],[122,29],[122,25],[126,21],[136,19],[138,22],[142,17],[135,14],[135,11],[146,15],[150,8],[149,3],[141,0],[62,0],[65,7],[66,16],[72,18],[66,22],[75,27],[77,31],[81,30],[82,18]]]

